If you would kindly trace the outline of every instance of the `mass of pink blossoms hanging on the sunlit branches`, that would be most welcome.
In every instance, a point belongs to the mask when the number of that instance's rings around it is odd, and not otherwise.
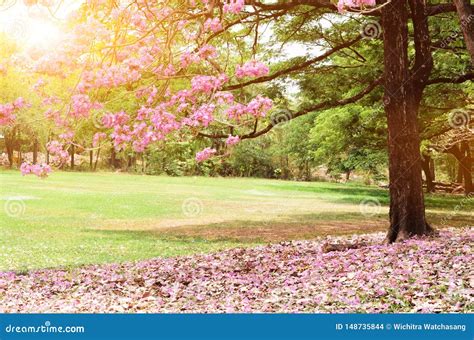
[[[96,112],[93,111],[106,105],[105,101],[102,104],[95,99],[105,97],[102,96],[105,91],[101,91],[104,89],[107,89],[107,96],[110,97],[116,96],[119,91],[129,95],[138,89],[136,97],[139,99],[137,100],[139,105],[142,105],[133,112],[107,113],[101,118],[103,127],[109,130],[95,134],[92,145],[95,147],[100,145],[106,138],[105,135],[108,135],[117,150],[132,147],[133,150],[142,152],[151,143],[162,140],[177,130],[194,131],[197,128],[210,127],[213,122],[221,118],[220,115],[225,116],[224,120],[227,118],[239,120],[243,115],[247,115],[248,118],[264,117],[271,109],[272,102],[268,98],[257,96],[246,104],[240,104],[235,102],[232,93],[220,92],[229,82],[228,75],[221,71],[220,74],[196,75],[191,71],[197,71],[198,68],[186,70],[192,64],[200,62],[211,64],[214,70],[219,69],[216,67],[218,62],[212,60],[218,57],[216,47],[203,44],[206,39],[201,38],[223,29],[222,13],[219,17],[212,17],[215,13],[205,15],[203,22],[195,25],[196,22],[183,19],[182,13],[171,5],[151,6],[149,13],[139,11],[139,7],[144,5],[143,0],[124,7],[113,7],[102,0],[91,0],[89,5],[92,7],[91,13],[95,15],[88,16],[86,22],[74,27],[70,41],[65,41],[64,45],[55,51],[57,53],[45,54],[37,59],[40,64],[39,71],[51,76],[67,75],[71,72],[68,70],[78,67],[84,70],[76,91],[67,103],[69,105],[65,106],[69,110],[54,107],[60,99],[46,93],[46,90],[53,89],[49,87],[46,89],[46,81],[42,78],[34,85],[36,94],[41,96],[42,104],[51,106],[45,112],[46,117],[65,131],[59,134],[57,142],[59,145],[50,143],[53,149],[51,154],[57,157],[59,164],[67,159],[66,145],[73,142],[73,131],[75,127],[80,126],[79,120],[91,119],[91,116],[95,118]],[[201,0],[196,6],[199,7],[195,8],[196,12],[206,9],[217,10],[217,7],[214,8],[208,0]],[[223,1],[224,13],[231,16],[240,13],[244,7],[244,0]],[[197,17],[200,17],[200,14]],[[151,34],[143,34],[151,26],[150,20],[165,20],[166,25],[156,27],[156,31]],[[120,23],[125,31],[118,34],[112,30],[111,27],[115,27],[116,23]],[[169,42],[164,38],[167,34],[160,35],[160,30],[164,31],[162,33],[176,30],[176,42],[179,43],[176,46],[169,46]],[[196,36],[189,40],[192,34]],[[103,46],[107,51],[112,43],[118,47],[113,49],[113,53],[104,53],[105,59],[99,60],[94,52],[90,53],[91,42],[99,48]],[[179,52],[183,50],[190,52]],[[45,65],[41,65],[43,63]],[[237,78],[260,77],[268,73],[268,67],[256,60],[239,65],[236,69]],[[181,84],[184,83],[182,79],[189,77],[192,77],[190,86],[182,89]],[[163,88],[160,83],[160,87],[157,88],[158,85],[155,86],[148,81],[152,78],[158,81],[169,78],[171,81]],[[175,78],[179,79],[176,83],[173,80]],[[182,83],[175,86],[178,82]],[[120,88],[116,89],[117,87]],[[4,113],[3,116],[6,117],[7,114]],[[0,122],[2,119],[10,120],[2,118],[0,110]],[[226,143],[234,145],[239,140],[238,136],[229,136]]]

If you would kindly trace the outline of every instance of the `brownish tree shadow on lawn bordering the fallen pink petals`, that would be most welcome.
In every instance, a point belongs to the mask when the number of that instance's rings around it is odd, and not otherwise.
[[[466,227],[472,225],[468,215],[429,213],[435,228]],[[359,213],[321,213],[287,216],[268,221],[231,220],[207,225],[161,227],[154,230],[95,230],[103,237],[125,240],[161,240],[177,247],[192,245],[196,249],[227,243],[228,246],[265,244],[291,240],[305,240],[328,235],[349,235],[385,232],[389,227],[386,214],[370,217]]]

